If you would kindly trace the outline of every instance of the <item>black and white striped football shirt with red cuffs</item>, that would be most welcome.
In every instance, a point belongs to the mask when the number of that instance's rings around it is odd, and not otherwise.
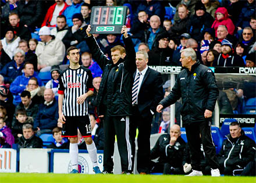
[[[79,69],[68,68],[62,71],[58,94],[64,95],[62,103],[64,116],[88,115],[87,99],[79,105],[77,98],[89,90],[93,91],[93,76],[89,69],[81,66]]]

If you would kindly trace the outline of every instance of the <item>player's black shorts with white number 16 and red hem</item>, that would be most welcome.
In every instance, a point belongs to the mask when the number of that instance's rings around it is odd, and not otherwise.
[[[77,128],[82,137],[91,137],[91,122],[87,116],[65,116],[61,137],[77,137]]]

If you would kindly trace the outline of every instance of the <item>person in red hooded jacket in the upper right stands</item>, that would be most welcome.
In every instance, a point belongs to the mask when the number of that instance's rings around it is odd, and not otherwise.
[[[234,34],[234,24],[231,19],[229,19],[229,14],[227,13],[227,9],[224,7],[220,7],[215,12],[215,21],[212,24],[212,28],[215,29],[215,36],[217,37],[217,29],[219,25],[224,25],[227,27],[227,31],[230,35]]]

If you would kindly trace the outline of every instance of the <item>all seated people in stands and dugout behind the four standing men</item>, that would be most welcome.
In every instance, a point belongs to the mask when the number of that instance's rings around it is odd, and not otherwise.
[[[69,149],[69,139],[61,137],[62,123],[58,120],[58,84],[61,71],[69,67],[66,50],[76,46],[81,55],[80,65],[93,74],[94,95],[87,99],[88,112],[95,146],[104,150],[104,123],[97,114],[102,69],[85,37],[91,8],[116,5],[128,7],[129,37],[136,52],[148,53],[148,66],[182,66],[181,51],[192,48],[199,62],[208,67],[256,67],[254,0],[1,0],[1,148],[11,148],[14,143],[19,148],[42,148],[40,136],[52,134],[55,141],[47,148]],[[93,36],[111,59],[113,47],[125,46],[121,35]],[[44,73],[50,73],[51,78],[45,80]],[[162,80],[161,92],[167,96],[170,80]],[[255,98],[256,87],[255,83],[247,82],[241,86],[222,86],[219,91],[220,113],[233,114],[243,112],[243,101]],[[190,151],[180,137],[181,103],[176,103],[176,124],[172,127],[170,107],[155,114],[152,120],[151,134],[163,135],[150,152],[150,160],[159,159],[157,163],[150,162],[148,173],[191,172]],[[79,149],[86,149],[81,135],[77,143]],[[210,174],[208,160],[202,148],[201,151],[198,156],[202,157],[202,172]],[[255,175],[255,142],[244,135],[238,123],[230,124],[230,135],[218,157],[222,174],[250,175],[248,172],[254,171]],[[243,170],[247,172],[242,173]]]

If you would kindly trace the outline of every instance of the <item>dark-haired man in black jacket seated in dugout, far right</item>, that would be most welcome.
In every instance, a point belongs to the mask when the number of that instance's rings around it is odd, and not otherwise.
[[[222,174],[237,175],[254,160],[255,142],[244,134],[237,122],[230,123],[229,131],[218,155],[219,166]]]

